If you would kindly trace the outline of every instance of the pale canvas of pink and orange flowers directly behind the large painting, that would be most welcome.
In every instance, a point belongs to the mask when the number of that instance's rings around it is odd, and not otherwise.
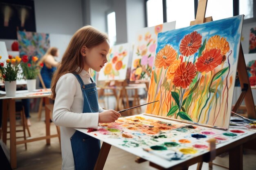
[[[150,80],[157,46],[157,34],[172,29],[175,29],[175,21],[138,31],[132,54],[130,81]]]

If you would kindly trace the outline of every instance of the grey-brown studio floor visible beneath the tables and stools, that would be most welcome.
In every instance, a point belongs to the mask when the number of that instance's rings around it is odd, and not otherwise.
[[[43,119],[38,121],[37,113],[31,113],[32,126],[30,130],[32,137],[45,134],[45,122]],[[56,133],[53,123],[51,125],[51,133]],[[7,141],[7,147],[9,147],[9,141]],[[104,170],[155,170],[155,168],[149,166],[148,162],[139,164],[135,162],[135,159],[135,155],[112,146]],[[214,163],[228,166],[229,156],[217,157]],[[244,170],[256,169],[255,151],[246,150],[243,165]],[[58,138],[52,138],[50,146],[46,146],[45,140],[28,143],[27,150],[25,150],[24,144],[18,145],[17,166],[16,170],[61,170],[61,150]],[[196,170],[196,167],[197,165],[193,165],[189,167],[189,170]],[[202,170],[209,169],[211,168],[208,168],[208,163],[203,163]],[[225,168],[218,166],[213,166],[213,169],[225,170]]]

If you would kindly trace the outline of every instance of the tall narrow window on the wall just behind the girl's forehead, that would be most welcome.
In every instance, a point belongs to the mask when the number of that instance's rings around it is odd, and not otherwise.
[[[108,37],[110,39],[110,46],[113,46],[117,41],[117,29],[116,29],[116,13],[111,12],[107,16],[108,19]]]

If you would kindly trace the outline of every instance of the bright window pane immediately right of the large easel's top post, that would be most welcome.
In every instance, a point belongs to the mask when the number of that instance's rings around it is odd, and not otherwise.
[[[233,16],[233,0],[208,0],[205,18],[212,16],[213,21]]]

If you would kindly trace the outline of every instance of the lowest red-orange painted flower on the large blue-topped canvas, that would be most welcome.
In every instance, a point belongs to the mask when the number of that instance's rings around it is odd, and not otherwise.
[[[173,83],[176,87],[187,88],[196,75],[196,68],[192,62],[182,62],[175,71]]]

